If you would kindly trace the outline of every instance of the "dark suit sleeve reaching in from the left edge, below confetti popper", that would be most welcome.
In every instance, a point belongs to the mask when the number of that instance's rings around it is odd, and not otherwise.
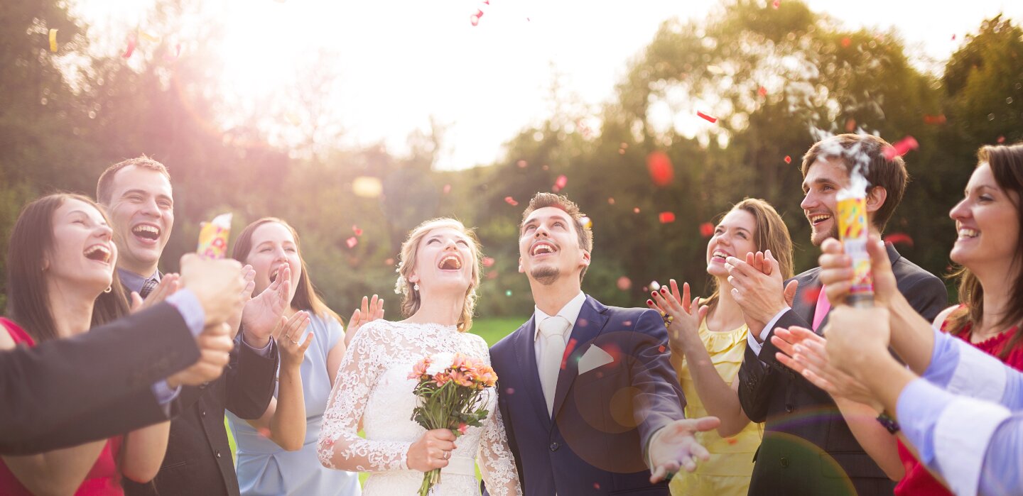
[[[0,453],[41,453],[166,420],[152,384],[198,358],[166,303],[70,340],[0,352]]]

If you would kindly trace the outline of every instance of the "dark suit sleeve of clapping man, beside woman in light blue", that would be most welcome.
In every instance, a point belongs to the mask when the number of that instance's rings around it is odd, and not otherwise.
[[[277,378],[277,344],[271,340],[267,357],[241,343],[236,344],[234,350],[231,362],[224,371],[227,376],[227,409],[238,418],[259,418],[273,398]]]

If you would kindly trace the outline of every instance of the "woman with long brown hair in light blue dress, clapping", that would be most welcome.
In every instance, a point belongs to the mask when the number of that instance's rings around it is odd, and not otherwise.
[[[278,341],[277,389],[263,416],[243,420],[227,412],[238,446],[241,494],[359,494],[355,474],[326,469],[316,458],[323,410],[345,356],[345,329],[316,294],[298,231],[281,219],[264,217],[241,231],[233,257],[256,271],[254,295],[285,285],[281,290],[287,291],[288,305],[280,325],[294,336]],[[363,302],[349,321],[349,332],[384,316],[383,300],[373,296],[372,305]]]

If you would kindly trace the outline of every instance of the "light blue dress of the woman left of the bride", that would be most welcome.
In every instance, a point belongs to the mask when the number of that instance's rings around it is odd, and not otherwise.
[[[302,362],[302,392],[306,401],[306,440],[302,449],[284,451],[253,429],[249,422],[227,412],[231,434],[238,446],[238,486],[244,496],[338,495],[358,496],[358,475],[335,470],[320,464],[316,443],[323,411],[330,396],[326,356],[343,340],[345,330],[337,320],[312,316],[309,327],[315,335]],[[273,396],[277,396],[274,391]]]

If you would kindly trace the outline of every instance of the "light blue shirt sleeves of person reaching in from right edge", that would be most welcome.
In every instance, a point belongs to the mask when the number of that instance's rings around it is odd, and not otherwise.
[[[1023,373],[938,329],[896,415],[920,461],[958,495],[1023,494]]]

